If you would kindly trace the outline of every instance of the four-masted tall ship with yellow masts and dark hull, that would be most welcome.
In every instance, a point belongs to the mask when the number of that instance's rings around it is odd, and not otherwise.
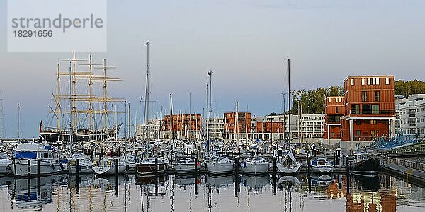
[[[42,126],[40,124],[40,135],[47,141],[47,143],[66,142],[72,141],[90,141],[90,140],[106,140],[113,137],[117,131],[120,130],[122,124],[115,126],[108,126],[108,110],[109,102],[123,102],[123,98],[111,98],[107,94],[107,82],[119,81],[119,78],[111,78],[106,74],[107,69],[113,69],[111,66],[106,65],[106,59],[103,59],[103,64],[94,64],[89,57],[89,64],[81,64],[85,59],[76,59],[75,52],[72,53],[72,58],[64,61],[69,62],[69,70],[61,71],[60,64],[57,64],[57,88],[56,93],[52,96],[55,102],[55,110],[51,108],[51,113],[54,116],[51,118],[50,123],[56,122],[56,126]],[[79,71],[77,66],[89,66],[89,71]],[[101,69],[103,73],[95,74],[94,69]],[[69,80],[69,87],[61,84],[61,81]],[[88,91],[85,93],[77,93],[77,85],[84,81],[89,86]],[[102,83],[103,89],[99,91],[102,93],[96,95],[94,93],[94,83]],[[63,87],[63,88],[62,88]],[[62,90],[68,90],[69,93],[63,93]],[[64,107],[65,101],[69,101],[69,111]],[[98,110],[95,109],[96,105],[101,105]],[[64,114],[69,114],[69,124],[64,124]],[[83,118],[84,117],[84,118]],[[88,118],[88,120],[86,120]],[[80,121],[81,120],[81,121]],[[96,120],[102,121],[103,129],[100,129],[96,124]],[[53,123],[52,123],[53,124]],[[51,125],[51,124],[47,124]]]

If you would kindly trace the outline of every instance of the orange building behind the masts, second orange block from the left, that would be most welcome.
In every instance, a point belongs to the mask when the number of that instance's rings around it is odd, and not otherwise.
[[[225,112],[225,133],[246,134],[251,132],[251,112]]]

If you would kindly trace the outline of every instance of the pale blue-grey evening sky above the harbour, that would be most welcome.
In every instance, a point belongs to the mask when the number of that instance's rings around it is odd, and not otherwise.
[[[342,85],[347,76],[425,78],[425,1],[108,1],[107,52],[116,66],[108,93],[141,114],[150,43],[152,114],[203,113],[212,70],[212,113],[282,112],[291,90]],[[38,136],[55,90],[57,61],[69,52],[7,52],[7,1],[0,1],[0,92],[6,137]],[[77,57],[87,57],[77,52]]]

